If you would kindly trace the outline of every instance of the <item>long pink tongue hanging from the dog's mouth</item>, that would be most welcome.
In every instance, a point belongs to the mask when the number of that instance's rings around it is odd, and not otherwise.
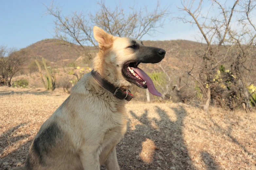
[[[146,82],[147,89],[151,94],[155,96],[162,96],[162,94],[156,90],[151,78],[142,69],[138,67],[136,68],[131,67],[131,69],[133,69],[144,81],[147,81]]]

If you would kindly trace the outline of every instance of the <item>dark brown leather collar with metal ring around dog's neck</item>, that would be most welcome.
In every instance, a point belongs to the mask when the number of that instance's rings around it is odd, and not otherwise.
[[[102,78],[97,71],[92,70],[92,75],[95,80],[103,86],[105,89],[113,93],[114,96],[118,97],[119,99],[125,99],[130,101],[133,98],[133,95],[130,93],[129,89],[122,89],[120,87],[115,87],[110,82]],[[129,91],[129,92],[128,92]]]

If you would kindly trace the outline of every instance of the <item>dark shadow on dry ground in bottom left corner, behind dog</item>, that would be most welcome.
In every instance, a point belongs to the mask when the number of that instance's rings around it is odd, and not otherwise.
[[[21,165],[25,162],[32,139],[26,142],[23,142],[23,140],[31,135],[13,135],[13,133],[23,125],[26,125],[26,123],[21,123],[10,128],[0,136],[1,170],[9,170],[9,168],[16,167],[17,163]]]

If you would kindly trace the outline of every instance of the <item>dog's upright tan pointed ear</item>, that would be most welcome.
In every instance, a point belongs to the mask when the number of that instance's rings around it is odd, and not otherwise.
[[[93,34],[95,40],[99,43],[99,48],[101,50],[110,48],[110,46],[113,44],[113,36],[106,33],[103,29],[94,26]]]

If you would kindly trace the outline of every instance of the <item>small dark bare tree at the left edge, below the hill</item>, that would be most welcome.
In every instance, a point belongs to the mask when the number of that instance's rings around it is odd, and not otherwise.
[[[7,57],[6,54],[8,54]],[[0,76],[2,76],[5,86],[11,86],[12,77],[22,69],[25,61],[26,52],[24,50],[8,50],[6,47],[0,47]]]

